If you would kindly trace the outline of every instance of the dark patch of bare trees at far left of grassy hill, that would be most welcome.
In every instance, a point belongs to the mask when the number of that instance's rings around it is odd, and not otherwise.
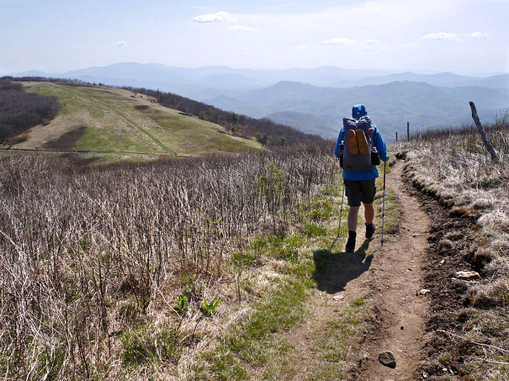
[[[60,110],[56,97],[25,92],[19,82],[0,78],[0,141],[40,123],[48,123]]]

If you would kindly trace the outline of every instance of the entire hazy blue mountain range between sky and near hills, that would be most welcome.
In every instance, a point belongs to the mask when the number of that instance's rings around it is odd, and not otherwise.
[[[115,86],[160,89],[253,117],[269,117],[306,133],[333,138],[351,106],[364,103],[391,136],[413,128],[470,123],[468,101],[482,118],[509,109],[509,74],[486,78],[454,73],[349,70],[335,67],[256,70],[226,66],[177,68],[120,62],[65,73],[17,76],[76,78]]]

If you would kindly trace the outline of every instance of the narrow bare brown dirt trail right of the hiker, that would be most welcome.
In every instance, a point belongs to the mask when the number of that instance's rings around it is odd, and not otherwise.
[[[423,289],[422,267],[425,265],[431,221],[419,202],[411,197],[401,176],[403,163],[394,165],[387,174],[402,207],[400,231],[384,243],[372,261],[372,281],[375,282],[375,303],[380,311],[382,330],[367,339],[364,351],[370,355],[362,372],[362,379],[415,380],[415,370],[425,358],[422,346],[427,340],[425,317],[428,297]],[[382,351],[391,351],[396,368],[383,366],[378,361]]]

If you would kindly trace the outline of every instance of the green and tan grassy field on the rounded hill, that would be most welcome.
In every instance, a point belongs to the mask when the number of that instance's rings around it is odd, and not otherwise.
[[[14,144],[11,150],[81,152],[88,158],[115,161],[261,148],[254,140],[231,136],[220,125],[183,115],[132,91],[49,82],[23,86],[26,91],[58,97],[62,107],[55,119],[24,133],[26,140]]]

